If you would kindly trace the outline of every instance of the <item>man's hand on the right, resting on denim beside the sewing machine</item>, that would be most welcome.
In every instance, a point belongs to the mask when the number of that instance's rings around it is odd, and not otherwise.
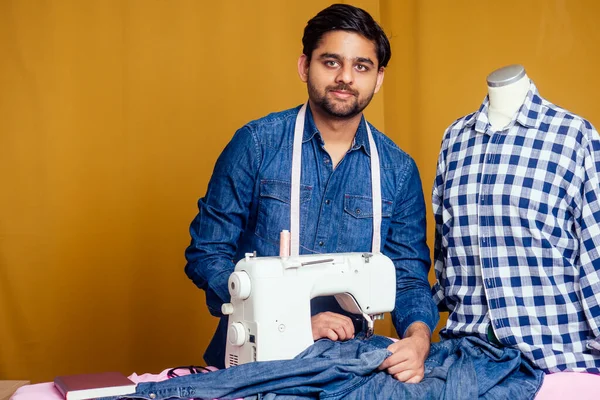
[[[386,370],[400,382],[419,383],[425,376],[425,359],[430,345],[429,328],[422,322],[415,322],[408,327],[403,339],[388,346],[393,354],[381,363],[379,370]]]

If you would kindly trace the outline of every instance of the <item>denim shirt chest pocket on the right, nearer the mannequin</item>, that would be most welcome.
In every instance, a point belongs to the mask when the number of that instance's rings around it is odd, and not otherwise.
[[[381,241],[390,226],[393,202],[381,201]],[[340,224],[338,251],[371,251],[373,199],[370,196],[344,195],[344,213]],[[369,233],[369,234],[367,234]]]

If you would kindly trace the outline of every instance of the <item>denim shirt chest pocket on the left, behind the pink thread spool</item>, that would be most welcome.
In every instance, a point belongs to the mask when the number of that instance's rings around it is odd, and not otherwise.
[[[308,218],[312,186],[300,185],[300,239]],[[279,233],[290,229],[291,184],[286,181],[263,179],[260,182],[256,236],[279,245]],[[275,254],[263,254],[263,256]]]

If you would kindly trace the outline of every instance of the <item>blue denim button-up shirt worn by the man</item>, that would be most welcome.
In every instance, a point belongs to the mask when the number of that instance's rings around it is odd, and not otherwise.
[[[238,130],[217,160],[206,196],[190,227],[185,272],[206,291],[212,315],[221,317],[205,360],[224,363],[227,280],[245,253],[279,254],[279,234],[290,229],[292,145],[300,107],[270,114]],[[371,251],[373,234],[370,150],[364,121],[352,148],[334,169],[310,107],[302,140],[300,253]],[[364,118],[364,117],[363,117]],[[392,321],[399,335],[421,321],[431,331],[438,313],[427,279],[425,202],[412,158],[371,126],[379,151],[382,252],[396,266]],[[333,298],[312,303],[313,314],[341,312]]]

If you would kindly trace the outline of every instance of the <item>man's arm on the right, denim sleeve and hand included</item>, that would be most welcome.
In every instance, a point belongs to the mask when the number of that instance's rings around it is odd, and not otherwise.
[[[396,266],[396,306],[392,322],[400,341],[380,366],[403,382],[423,379],[431,332],[439,320],[428,281],[430,266],[426,243],[425,201],[414,161],[408,162],[397,192],[384,253]]]

